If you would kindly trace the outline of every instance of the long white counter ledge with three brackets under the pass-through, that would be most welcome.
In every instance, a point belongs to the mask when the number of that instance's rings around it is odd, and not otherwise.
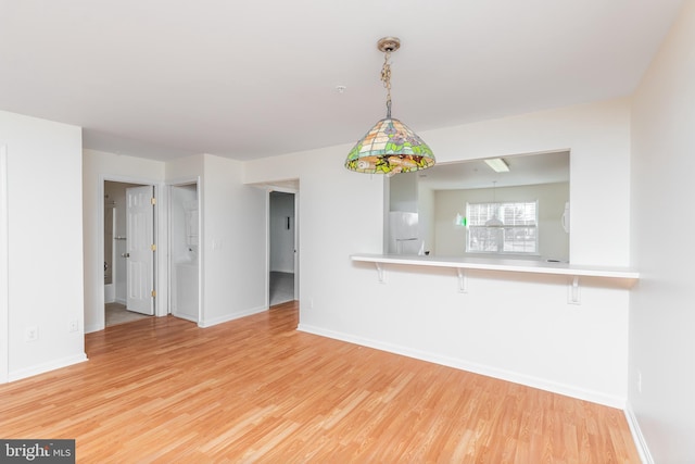
[[[568,263],[556,263],[533,260],[516,259],[485,259],[485,258],[445,258],[445,256],[419,256],[401,254],[353,254],[352,261],[375,263],[377,278],[386,283],[386,264],[404,266],[451,267],[458,274],[458,291],[468,292],[468,278],[466,269],[500,271],[511,273],[552,274],[572,277],[569,283],[567,302],[581,304],[579,291],[580,277],[601,277],[609,279],[626,279],[633,284],[640,278],[640,273],[629,267],[587,266]]]

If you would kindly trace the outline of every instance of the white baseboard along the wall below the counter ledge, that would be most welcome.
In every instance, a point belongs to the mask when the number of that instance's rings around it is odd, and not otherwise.
[[[315,327],[306,324],[300,324],[298,330],[308,334],[319,335],[323,337],[333,338],[337,340],[346,341],[350,343],[361,344],[363,347],[369,347],[377,350],[388,351],[390,353],[401,354],[416,360],[427,361],[434,364],[441,364],[448,367],[454,367],[462,371],[471,372],[475,374],[484,375],[488,377],[498,378],[501,380],[511,381],[515,384],[526,385],[528,387],[538,388],[553,393],[564,394],[566,397],[577,398],[580,400],[591,401],[592,403],[603,404],[619,410],[624,410],[626,399],[606,394],[601,391],[586,390],[578,388],[571,385],[559,384],[544,378],[527,376],[517,372],[500,369],[493,366],[478,364],[466,360],[459,360],[454,358],[441,356],[434,353],[429,353],[419,350],[413,350],[407,347],[384,343],[377,340],[370,340],[362,337],[355,337],[349,334],[337,333],[327,330],[320,327]]]

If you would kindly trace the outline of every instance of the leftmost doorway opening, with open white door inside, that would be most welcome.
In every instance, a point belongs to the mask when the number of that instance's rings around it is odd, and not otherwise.
[[[154,315],[154,186],[104,180],[104,326]]]

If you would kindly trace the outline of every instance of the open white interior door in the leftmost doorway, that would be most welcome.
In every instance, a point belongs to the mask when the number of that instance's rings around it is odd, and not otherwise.
[[[128,311],[154,314],[154,187],[126,189]]]

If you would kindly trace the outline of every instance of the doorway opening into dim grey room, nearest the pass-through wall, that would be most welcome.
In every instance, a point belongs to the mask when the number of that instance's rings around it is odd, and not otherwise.
[[[273,306],[299,298],[298,196],[270,191],[268,197],[268,305]]]

